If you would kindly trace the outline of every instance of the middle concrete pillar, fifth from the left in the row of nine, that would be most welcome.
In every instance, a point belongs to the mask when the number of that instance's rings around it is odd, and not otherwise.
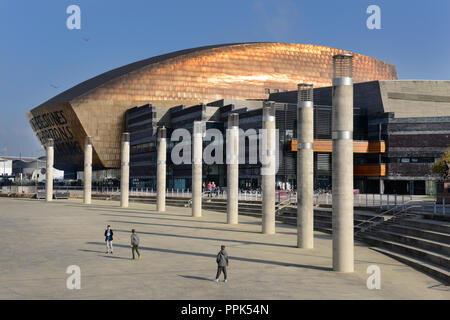
[[[205,124],[194,121],[192,135],[192,216],[202,216],[202,157]]]

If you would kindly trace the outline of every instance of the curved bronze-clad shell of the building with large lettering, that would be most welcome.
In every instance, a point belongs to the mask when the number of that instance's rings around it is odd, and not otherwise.
[[[138,61],[87,80],[28,114],[42,144],[55,140],[57,167],[83,165],[85,136],[93,137],[95,168],[120,165],[126,110],[219,99],[267,99],[300,82],[329,86],[332,56],[348,51],[305,44],[238,43],[177,51]],[[397,79],[393,65],[354,54],[354,81]]]

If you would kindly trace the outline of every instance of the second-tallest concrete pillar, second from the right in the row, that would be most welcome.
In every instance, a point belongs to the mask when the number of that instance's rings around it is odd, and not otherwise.
[[[314,247],[314,108],[313,85],[298,85],[297,106],[297,246]]]

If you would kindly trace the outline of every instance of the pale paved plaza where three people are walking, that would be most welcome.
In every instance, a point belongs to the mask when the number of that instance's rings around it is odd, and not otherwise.
[[[0,198],[0,299],[450,299],[449,288],[356,243],[355,272],[331,271],[331,235],[315,232],[315,249],[296,248],[296,228],[277,223],[261,234],[261,219],[115,201]],[[104,230],[114,231],[105,254]],[[142,260],[131,260],[130,230]],[[230,255],[228,283],[216,283],[220,245]],[[81,268],[81,290],[66,288],[66,268]],[[381,289],[369,290],[366,269],[381,269]]]

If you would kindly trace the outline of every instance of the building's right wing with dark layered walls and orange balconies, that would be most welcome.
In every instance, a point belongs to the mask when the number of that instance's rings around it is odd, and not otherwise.
[[[269,99],[294,103],[297,92],[272,94]],[[314,89],[314,104],[331,106],[332,88]],[[450,148],[450,81],[355,83],[354,106],[364,115],[357,120],[355,113],[354,119],[355,188],[369,193],[435,194],[440,178],[432,167]],[[315,113],[316,131],[321,132],[317,122],[324,119]],[[315,175],[331,184],[331,172],[324,170],[331,168],[332,156],[331,146],[324,148],[330,144],[323,141],[325,137],[315,135]]]

